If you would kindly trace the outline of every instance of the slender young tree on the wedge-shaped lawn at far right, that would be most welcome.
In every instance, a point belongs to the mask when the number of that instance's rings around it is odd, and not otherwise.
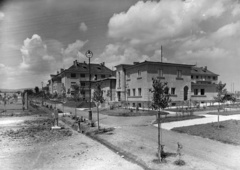
[[[226,95],[227,90],[225,89],[226,83],[223,84],[221,81],[216,85],[216,91],[217,91],[217,96],[214,97],[214,100],[218,102],[218,128],[219,126],[219,110],[220,110],[220,103],[224,103],[226,101]]]

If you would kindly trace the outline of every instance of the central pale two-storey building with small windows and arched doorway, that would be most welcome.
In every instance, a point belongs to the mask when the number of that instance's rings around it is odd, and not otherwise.
[[[192,66],[150,61],[118,65],[116,66],[117,101],[126,101],[133,107],[145,107],[152,100],[153,78],[168,83],[168,93],[173,105],[178,101],[189,100]]]

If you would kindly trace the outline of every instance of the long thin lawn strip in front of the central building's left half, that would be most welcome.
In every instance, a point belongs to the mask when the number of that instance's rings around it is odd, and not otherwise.
[[[101,114],[105,114],[108,116],[155,116],[157,114],[157,111],[154,110],[149,110],[149,111],[136,111],[133,110],[132,112],[129,109],[114,109],[114,110],[109,110],[105,109],[101,111]],[[167,112],[161,112],[161,115],[167,115],[169,113]]]

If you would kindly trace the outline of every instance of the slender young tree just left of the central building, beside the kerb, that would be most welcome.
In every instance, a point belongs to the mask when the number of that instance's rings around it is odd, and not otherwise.
[[[98,130],[99,130],[99,106],[105,101],[103,98],[103,91],[101,89],[101,83],[97,83],[93,92],[93,101],[97,106],[97,121],[98,121]]]

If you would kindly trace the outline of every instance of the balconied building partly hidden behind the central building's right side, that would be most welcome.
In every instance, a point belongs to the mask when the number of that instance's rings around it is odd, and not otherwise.
[[[209,71],[207,67],[192,67],[191,70],[191,100],[211,101],[217,96],[217,74]]]

